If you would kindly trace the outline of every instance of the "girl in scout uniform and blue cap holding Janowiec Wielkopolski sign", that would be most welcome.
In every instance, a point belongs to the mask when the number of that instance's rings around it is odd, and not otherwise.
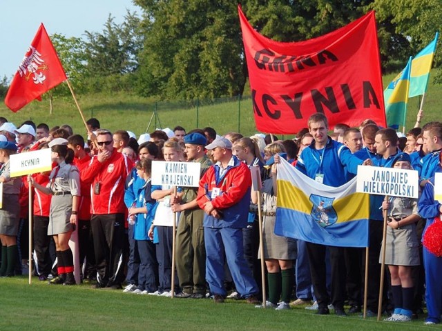
[[[393,168],[412,170],[410,155],[399,154],[393,161]],[[416,222],[420,218],[417,200],[391,197],[383,202],[382,208],[388,215],[385,264],[391,274],[394,303],[394,312],[385,321],[407,322],[411,321],[414,299],[412,266],[421,263],[416,234]]]

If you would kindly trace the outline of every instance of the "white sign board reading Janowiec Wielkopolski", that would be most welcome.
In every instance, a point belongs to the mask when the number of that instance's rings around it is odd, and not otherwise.
[[[419,197],[419,175],[416,170],[358,165],[356,192],[390,197]]]

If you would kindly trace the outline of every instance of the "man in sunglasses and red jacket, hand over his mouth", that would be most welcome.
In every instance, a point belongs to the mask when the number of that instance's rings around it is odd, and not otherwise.
[[[130,170],[128,160],[113,148],[112,133],[97,131],[98,154],[80,174],[90,183],[90,228],[93,233],[96,288],[122,288],[124,239],[124,183]]]

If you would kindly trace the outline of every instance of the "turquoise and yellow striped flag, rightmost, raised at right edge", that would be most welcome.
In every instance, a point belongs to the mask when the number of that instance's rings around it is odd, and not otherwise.
[[[430,70],[433,63],[434,52],[436,51],[439,32],[436,32],[434,40],[427,45],[421,52],[416,54],[412,61],[412,72],[410,74],[410,90],[408,97],[416,97],[427,92],[428,79],[430,79]]]

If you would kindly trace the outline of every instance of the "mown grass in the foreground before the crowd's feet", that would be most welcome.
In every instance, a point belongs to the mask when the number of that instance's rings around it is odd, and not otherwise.
[[[304,307],[285,311],[256,309],[244,301],[216,304],[210,299],[171,299],[89,285],[47,285],[36,278],[0,279],[0,330],[442,330],[410,323],[317,316]],[[333,311],[332,311],[333,312]]]

